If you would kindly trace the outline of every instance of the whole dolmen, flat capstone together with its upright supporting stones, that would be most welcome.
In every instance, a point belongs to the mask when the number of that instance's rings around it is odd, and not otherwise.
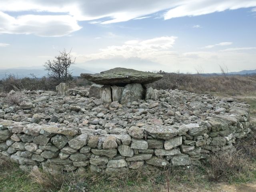
[[[118,101],[120,104],[141,99],[157,99],[158,92],[146,88],[146,84],[160,80],[161,74],[137,71],[127,68],[114,68],[100,74],[81,74],[81,77],[94,82],[89,97],[101,98],[104,103]]]

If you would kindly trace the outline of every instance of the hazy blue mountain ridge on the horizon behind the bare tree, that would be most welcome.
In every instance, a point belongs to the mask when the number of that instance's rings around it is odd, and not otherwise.
[[[72,66],[71,69],[73,76],[80,76],[81,73],[95,73],[76,66]],[[28,67],[0,69],[0,79],[7,78],[9,75],[14,75],[17,78],[32,77],[30,74],[33,74],[37,78],[42,78],[43,76],[46,76],[47,72],[41,67],[38,67],[37,69],[34,67],[31,67],[31,69]]]

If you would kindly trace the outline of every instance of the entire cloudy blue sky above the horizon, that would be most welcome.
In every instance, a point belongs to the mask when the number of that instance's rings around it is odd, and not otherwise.
[[[0,0],[0,68],[256,69],[256,0]]]

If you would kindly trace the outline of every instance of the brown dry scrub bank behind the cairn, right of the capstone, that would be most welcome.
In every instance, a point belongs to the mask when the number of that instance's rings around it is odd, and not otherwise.
[[[239,94],[256,91],[256,76],[202,76],[200,74],[163,73],[163,78],[152,83],[156,89],[179,89],[189,92],[228,92]]]

